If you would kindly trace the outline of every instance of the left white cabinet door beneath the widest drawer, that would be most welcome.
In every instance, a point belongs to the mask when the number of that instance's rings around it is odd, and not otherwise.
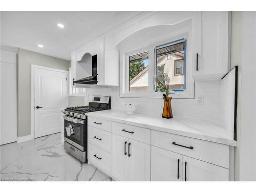
[[[151,146],[151,181],[181,181],[182,155]]]

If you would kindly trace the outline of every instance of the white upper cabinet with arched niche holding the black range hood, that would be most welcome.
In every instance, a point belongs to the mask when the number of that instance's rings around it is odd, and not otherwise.
[[[74,87],[119,86],[119,52],[105,51],[104,36],[74,50],[71,59]]]

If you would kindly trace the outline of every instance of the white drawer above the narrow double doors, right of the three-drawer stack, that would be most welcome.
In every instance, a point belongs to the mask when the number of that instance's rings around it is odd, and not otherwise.
[[[142,127],[112,122],[112,133],[150,144],[151,131]]]

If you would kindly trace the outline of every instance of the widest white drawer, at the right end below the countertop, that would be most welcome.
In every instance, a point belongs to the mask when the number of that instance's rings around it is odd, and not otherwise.
[[[229,146],[152,130],[152,145],[212,164],[229,167]]]

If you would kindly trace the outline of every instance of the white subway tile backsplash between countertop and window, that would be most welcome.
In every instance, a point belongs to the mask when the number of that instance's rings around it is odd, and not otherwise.
[[[215,123],[220,122],[220,90],[221,81],[195,82],[195,98],[204,95],[204,104],[198,105],[196,99],[172,99],[174,117],[205,119]],[[162,98],[120,98],[119,88],[89,89],[89,95],[110,95],[114,110],[122,110],[122,102],[139,103],[137,112],[161,116],[163,110]]]

